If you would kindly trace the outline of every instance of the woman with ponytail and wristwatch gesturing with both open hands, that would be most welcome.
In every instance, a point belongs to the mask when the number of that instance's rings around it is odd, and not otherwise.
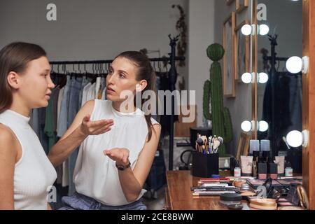
[[[87,102],[52,147],[48,157],[57,166],[80,146],[73,174],[76,193],[63,198],[62,209],[146,209],[142,188],[158,148],[160,124],[134,105],[136,86],[138,93],[154,90],[154,70],[141,52],[123,52],[106,77],[107,100]],[[132,93],[126,107],[124,90]]]

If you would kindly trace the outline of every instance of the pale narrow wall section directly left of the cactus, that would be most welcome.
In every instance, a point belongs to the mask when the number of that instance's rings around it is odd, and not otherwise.
[[[203,125],[204,82],[210,78],[211,61],[206,50],[214,43],[214,7],[214,0],[189,1],[189,90],[196,91],[198,126]]]

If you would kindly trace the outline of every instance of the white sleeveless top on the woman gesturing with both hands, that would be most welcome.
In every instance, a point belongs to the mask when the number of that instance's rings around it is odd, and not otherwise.
[[[120,186],[116,162],[103,154],[105,149],[127,148],[130,151],[132,169],[141,153],[148,126],[144,113],[137,109],[133,113],[121,113],[113,109],[108,100],[94,100],[91,120],[113,119],[111,131],[100,135],[90,135],[83,141],[78,152],[73,182],[76,191],[94,198],[102,204],[119,206],[129,204]],[[151,118],[152,124],[158,124]],[[142,197],[146,190],[141,190]]]

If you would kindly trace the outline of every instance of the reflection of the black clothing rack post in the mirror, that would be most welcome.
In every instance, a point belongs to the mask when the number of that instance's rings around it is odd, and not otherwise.
[[[269,80],[271,82],[271,87],[272,87],[272,127],[270,128],[270,140],[271,142],[271,146],[272,146],[272,150],[271,152],[271,158],[273,158],[274,155],[276,155],[277,151],[276,151],[276,136],[275,136],[275,125],[274,125],[274,119],[275,119],[275,106],[276,106],[276,75],[277,73],[279,74],[279,71],[277,71],[276,69],[276,63],[280,63],[280,62],[286,62],[289,57],[276,57],[277,53],[276,53],[276,45],[278,45],[276,39],[278,38],[278,35],[268,35],[269,36],[269,41],[270,41],[270,45],[271,45],[271,56],[267,56],[267,52],[262,52],[263,54],[263,61],[264,64],[267,64],[268,62],[270,62],[271,64],[271,68],[269,69]]]

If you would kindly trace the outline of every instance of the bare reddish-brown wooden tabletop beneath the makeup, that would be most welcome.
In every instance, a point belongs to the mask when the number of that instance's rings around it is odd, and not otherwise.
[[[167,209],[228,210],[228,207],[223,207],[219,204],[220,197],[218,196],[193,197],[190,187],[197,187],[199,180],[200,177],[192,176],[190,171],[168,171],[166,190]]]

